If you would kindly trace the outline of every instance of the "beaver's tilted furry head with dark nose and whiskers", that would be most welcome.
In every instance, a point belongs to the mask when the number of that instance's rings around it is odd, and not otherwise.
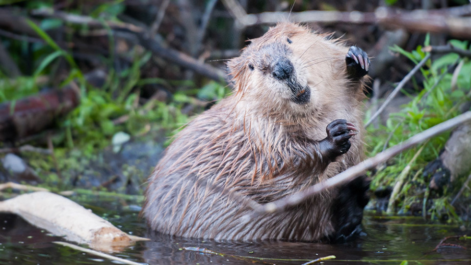
[[[242,101],[271,111],[305,111],[335,97],[336,80],[345,77],[344,50],[326,35],[281,23],[251,40],[228,66]]]

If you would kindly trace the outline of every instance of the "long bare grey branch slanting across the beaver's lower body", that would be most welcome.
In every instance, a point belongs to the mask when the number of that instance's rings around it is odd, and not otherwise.
[[[388,159],[391,159],[402,151],[409,149],[424,140],[430,139],[431,137],[434,137],[442,132],[448,131],[470,120],[471,111],[467,111],[459,116],[456,116],[423,132],[420,132],[410,137],[406,141],[392,146],[391,148],[388,148],[387,150],[377,154],[376,156],[366,159],[360,162],[359,164],[352,166],[347,170],[337,174],[336,176],[327,179],[326,181],[308,187],[304,191],[298,192],[283,199],[279,199],[264,205],[255,206],[253,207],[254,212],[249,214],[249,216],[247,217],[252,218],[251,215],[258,215],[261,213],[279,212],[283,211],[283,209],[288,206],[298,205],[304,202],[307,198],[312,197],[314,194],[317,194],[322,190],[346,184],[355,179],[356,177],[363,175],[367,170],[374,168],[378,164],[385,162]]]

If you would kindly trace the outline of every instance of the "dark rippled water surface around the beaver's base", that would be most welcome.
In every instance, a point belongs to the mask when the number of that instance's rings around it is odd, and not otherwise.
[[[335,255],[336,259],[326,260],[323,264],[401,264],[402,261],[409,264],[471,264],[470,239],[450,238],[445,241],[449,245],[434,251],[443,238],[471,235],[470,230],[432,224],[416,217],[367,214],[364,235],[343,244],[215,242],[148,233],[144,220],[138,218],[138,207],[133,207],[132,203],[109,202],[109,198],[95,200],[98,202],[94,202],[93,207],[80,203],[127,233],[153,239],[137,242],[121,253],[112,254],[138,263],[300,265]],[[52,243],[58,240],[61,238],[48,235],[47,231],[29,225],[21,217],[0,214],[0,264],[119,264]]]

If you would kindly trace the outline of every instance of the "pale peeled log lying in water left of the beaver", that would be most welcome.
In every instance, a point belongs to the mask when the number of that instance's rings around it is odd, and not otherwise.
[[[134,241],[148,240],[128,235],[77,203],[46,191],[2,201],[0,212],[15,213],[55,236],[101,251],[119,251]]]

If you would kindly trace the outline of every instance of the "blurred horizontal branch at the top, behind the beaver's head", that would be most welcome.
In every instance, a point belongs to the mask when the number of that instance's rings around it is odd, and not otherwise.
[[[410,31],[447,33],[454,37],[471,37],[471,5],[436,10],[401,10],[379,7],[375,12],[303,11],[247,14],[236,0],[223,0],[240,27],[275,24],[282,20],[311,23],[378,24]]]

